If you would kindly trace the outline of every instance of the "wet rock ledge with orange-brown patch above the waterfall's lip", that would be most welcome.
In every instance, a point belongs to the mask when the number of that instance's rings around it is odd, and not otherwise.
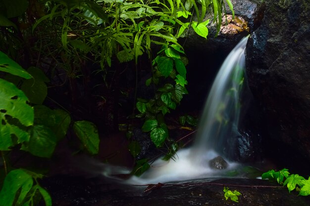
[[[198,36],[191,28],[188,36],[184,38],[186,50],[201,50],[208,53],[221,49],[228,53],[249,31],[258,27],[263,16],[264,3],[259,0],[232,0],[232,4],[236,18],[232,20],[231,11],[226,9],[228,15],[222,16],[221,28],[217,37],[215,37],[216,23],[209,23],[207,39]],[[194,16],[193,19],[197,21],[197,17]],[[212,22],[213,17],[207,14],[204,21],[207,19]]]

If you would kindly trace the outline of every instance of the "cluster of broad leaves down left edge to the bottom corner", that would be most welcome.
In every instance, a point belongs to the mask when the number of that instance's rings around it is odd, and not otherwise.
[[[10,151],[21,145],[21,150],[32,155],[50,158],[57,142],[67,133],[70,115],[64,110],[52,110],[42,105],[47,92],[42,92],[42,87],[38,89],[37,86],[45,85],[44,82],[49,80],[38,68],[30,67],[26,71],[0,51],[0,71],[8,73],[0,78],[0,151]],[[38,85],[40,81],[42,84]],[[94,124],[76,121],[73,130],[89,153],[98,153],[99,136]],[[4,160],[5,157],[2,158]],[[6,169],[7,165],[4,167]],[[43,197],[46,205],[51,206],[51,197],[38,184],[37,178],[42,178],[42,175],[24,169],[11,170],[0,191],[0,205],[34,206]]]

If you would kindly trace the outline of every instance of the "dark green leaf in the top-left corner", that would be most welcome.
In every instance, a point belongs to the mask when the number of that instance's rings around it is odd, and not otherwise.
[[[6,10],[6,17],[13,18],[24,14],[28,8],[28,0],[2,0]]]

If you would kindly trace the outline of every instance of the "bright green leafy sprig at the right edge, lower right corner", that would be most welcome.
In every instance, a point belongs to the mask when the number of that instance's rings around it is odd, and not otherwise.
[[[301,196],[310,195],[310,177],[306,180],[304,177],[298,174],[290,174],[288,169],[281,169],[280,171],[275,171],[273,169],[264,172],[261,175],[262,179],[274,179],[280,185],[287,186],[289,192],[296,189]],[[284,181],[285,180],[285,181]],[[284,182],[283,182],[284,181]]]

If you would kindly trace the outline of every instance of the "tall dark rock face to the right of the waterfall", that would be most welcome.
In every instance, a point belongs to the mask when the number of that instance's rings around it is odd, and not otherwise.
[[[270,135],[267,145],[310,161],[310,1],[266,0],[246,52],[249,86]]]

